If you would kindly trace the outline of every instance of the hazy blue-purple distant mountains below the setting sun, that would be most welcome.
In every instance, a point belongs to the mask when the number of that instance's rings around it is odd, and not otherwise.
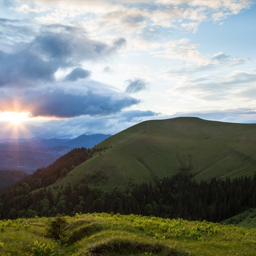
[[[82,134],[70,140],[56,138],[0,140],[0,170],[19,170],[33,173],[36,169],[53,163],[73,148],[92,148],[109,136],[111,135]]]

